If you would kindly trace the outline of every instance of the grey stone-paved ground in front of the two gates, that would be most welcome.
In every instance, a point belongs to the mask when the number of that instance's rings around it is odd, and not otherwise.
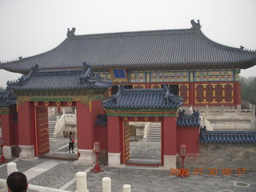
[[[102,166],[101,173],[90,172],[92,167],[77,165],[72,161],[37,158],[34,161],[16,161],[19,171],[27,174],[29,183],[54,189],[76,190],[74,176],[78,171],[86,171],[87,186],[90,192],[102,191],[102,178],[110,177],[112,191],[122,191],[124,184],[130,184],[132,191],[166,192],[166,191],[219,191],[239,192],[256,191],[256,170],[246,170],[244,175],[224,176],[222,174],[190,174],[188,178],[169,175],[170,171],[158,168],[123,166],[110,168]],[[6,179],[6,164],[0,164],[0,178]],[[248,184],[247,184],[248,183]],[[248,186],[248,187],[245,187]]]

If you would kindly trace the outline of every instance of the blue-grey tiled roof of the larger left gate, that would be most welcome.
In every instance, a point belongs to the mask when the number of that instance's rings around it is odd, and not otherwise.
[[[86,68],[87,67],[87,68]],[[110,82],[95,75],[90,66],[84,70],[37,71],[38,66],[16,82],[7,82],[11,90],[83,90],[88,88],[108,88]]]

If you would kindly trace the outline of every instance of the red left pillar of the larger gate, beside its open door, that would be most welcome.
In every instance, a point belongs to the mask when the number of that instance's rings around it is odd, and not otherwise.
[[[34,107],[30,102],[23,102],[18,106],[18,144],[33,146],[34,134]]]

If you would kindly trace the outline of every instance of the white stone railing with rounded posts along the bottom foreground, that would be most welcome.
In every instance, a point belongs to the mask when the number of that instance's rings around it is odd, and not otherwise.
[[[9,164],[12,163],[11,166]],[[10,162],[7,164],[7,174],[11,174],[14,171],[18,171],[17,164],[15,162]],[[75,181],[77,184],[76,192],[89,192],[87,189],[87,174],[86,172],[78,172],[75,174]],[[28,190],[30,191],[37,191],[37,192],[48,192],[48,191],[56,191],[56,192],[70,192],[69,190],[60,190],[54,189],[45,186],[36,186],[36,185],[29,185]],[[131,192],[131,186],[126,184],[122,186],[123,192]],[[6,179],[0,178],[0,192],[8,192]],[[104,177],[102,178],[102,192],[111,192],[111,178]]]

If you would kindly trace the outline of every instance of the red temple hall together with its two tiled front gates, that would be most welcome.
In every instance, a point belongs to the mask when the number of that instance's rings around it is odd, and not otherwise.
[[[0,69],[24,74],[0,93],[6,151],[11,156],[18,146],[19,158],[48,152],[47,109],[66,106],[76,108],[78,162],[86,165],[95,161],[95,141],[107,151],[110,166],[136,164],[130,161],[130,122],[160,125],[159,166],[176,166],[180,144],[198,154],[199,114],[178,110],[236,109],[238,74],[256,64],[256,52],[214,42],[199,21],[191,24],[182,30],[87,35],[75,35],[72,28],[53,50],[1,62]]]

